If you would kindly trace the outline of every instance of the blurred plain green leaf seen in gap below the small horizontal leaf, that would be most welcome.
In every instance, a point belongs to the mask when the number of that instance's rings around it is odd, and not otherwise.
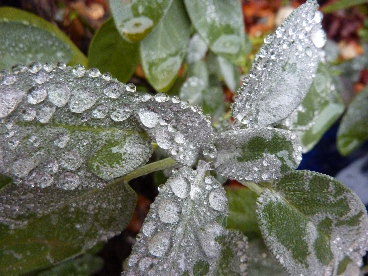
[[[225,188],[229,200],[227,228],[238,229],[249,239],[261,237],[255,214],[258,195],[247,188]]]

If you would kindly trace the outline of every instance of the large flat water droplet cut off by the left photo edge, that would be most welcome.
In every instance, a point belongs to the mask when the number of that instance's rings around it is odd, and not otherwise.
[[[0,86],[0,118],[8,116],[22,101],[24,92],[13,87]]]

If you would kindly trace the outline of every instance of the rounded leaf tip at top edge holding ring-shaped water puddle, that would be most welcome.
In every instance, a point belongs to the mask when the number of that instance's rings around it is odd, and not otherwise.
[[[145,38],[169,10],[173,0],[109,0],[115,25],[129,42]]]

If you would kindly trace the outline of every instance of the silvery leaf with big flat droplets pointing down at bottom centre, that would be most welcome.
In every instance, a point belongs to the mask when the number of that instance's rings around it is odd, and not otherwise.
[[[226,275],[227,269],[245,275],[245,237],[224,229],[226,194],[215,178],[205,177],[205,166],[183,167],[160,186],[125,275]]]

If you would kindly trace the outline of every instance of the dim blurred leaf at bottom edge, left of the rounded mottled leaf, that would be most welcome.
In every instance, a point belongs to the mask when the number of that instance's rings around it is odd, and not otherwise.
[[[251,276],[288,276],[285,270],[266,247],[262,238],[252,240],[248,244],[248,275]]]

